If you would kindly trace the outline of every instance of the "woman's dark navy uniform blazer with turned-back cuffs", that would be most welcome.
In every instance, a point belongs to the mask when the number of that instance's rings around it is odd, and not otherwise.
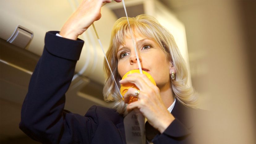
[[[47,32],[43,54],[36,65],[22,105],[19,128],[42,143],[125,144],[123,116],[114,109],[92,106],[85,116],[64,110],[68,90],[80,57],[83,40],[69,40]],[[189,143],[192,113],[179,101],[173,108],[175,120],[154,144]]]

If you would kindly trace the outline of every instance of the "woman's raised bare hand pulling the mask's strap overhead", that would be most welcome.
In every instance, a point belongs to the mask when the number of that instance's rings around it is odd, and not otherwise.
[[[114,1],[121,2],[122,0]],[[76,40],[94,21],[100,19],[100,9],[104,2],[109,3],[111,0],[83,0],[77,10],[63,25],[60,35]]]

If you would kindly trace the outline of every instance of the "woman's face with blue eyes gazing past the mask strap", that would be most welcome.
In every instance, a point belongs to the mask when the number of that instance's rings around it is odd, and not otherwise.
[[[138,55],[142,70],[148,72],[156,81],[156,85],[161,88],[170,84],[169,72],[174,69],[162,48],[154,40],[135,33],[134,42],[138,49]],[[139,69],[133,41],[131,37],[125,39],[125,44],[120,45],[117,50],[118,72],[121,77],[126,72]]]

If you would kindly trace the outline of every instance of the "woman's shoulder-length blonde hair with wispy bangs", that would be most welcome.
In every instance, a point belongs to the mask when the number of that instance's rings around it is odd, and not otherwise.
[[[173,36],[150,15],[143,14],[128,19],[133,31],[155,40],[166,53],[167,58],[172,61],[176,69],[175,79],[171,80],[173,96],[185,106],[195,107],[197,97],[194,89],[187,85],[188,71]],[[117,82],[122,79],[117,70],[117,49],[120,44],[124,44],[125,38],[130,35],[130,28],[126,17],[118,19],[114,23],[109,49],[106,53],[109,65]],[[104,71],[106,74],[103,88],[104,100],[113,102],[113,108],[116,109],[118,113],[126,115],[127,104],[124,103],[119,94],[120,84],[118,83],[118,88],[115,86],[106,60],[104,60]]]

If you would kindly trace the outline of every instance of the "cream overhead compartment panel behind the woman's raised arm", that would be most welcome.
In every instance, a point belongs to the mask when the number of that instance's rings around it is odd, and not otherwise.
[[[33,40],[26,47],[26,50],[40,56],[43,51],[45,33],[52,30],[59,31],[79,2],[81,1],[2,1],[0,6],[0,37],[8,40],[18,25],[23,26],[34,33]],[[103,7],[101,13],[102,18],[95,22],[95,26],[103,47],[107,51],[111,28],[117,17],[107,7]],[[79,38],[83,39],[85,44],[75,72],[103,84],[102,62],[104,55],[98,45],[94,31],[90,27]]]

